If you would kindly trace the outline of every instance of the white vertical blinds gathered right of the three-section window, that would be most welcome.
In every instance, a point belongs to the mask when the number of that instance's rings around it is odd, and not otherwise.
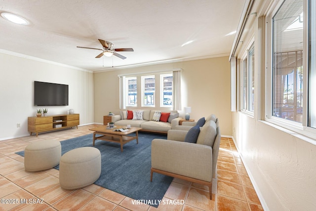
[[[173,110],[180,111],[181,107],[181,71],[172,72]]]

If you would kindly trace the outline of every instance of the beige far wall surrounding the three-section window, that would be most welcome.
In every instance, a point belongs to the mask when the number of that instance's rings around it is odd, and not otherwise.
[[[230,63],[228,57],[208,58],[137,68],[119,69],[94,74],[95,122],[103,123],[110,111],[119,113],[119,74],[140,73],[182,68],[182,107],[191,106],[191,119],[198,120],[215,114],[220,121],[221,133],[232,135],[230,111]],[[147,109],[137,107],[138,109]],[[160,107],[152,108],[160,109]],[[184,112],[179,111],[182,116]]]

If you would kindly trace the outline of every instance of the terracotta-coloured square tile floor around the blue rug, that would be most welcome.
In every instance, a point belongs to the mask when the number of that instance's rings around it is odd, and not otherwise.
[[[27,172],[22,151],[35,141],[66,140],[91,133],[91,127],[82,126],[0,141],[0,199],[11,200],[0,204],[0,211],[262,211],[263,208],[231,138],[222,138],[213,179],[212,200],[208,187],[174,179],[164,195],[164,202],[179,201],[179,205],[133,205],[132,199],[92,184],[79,190],[64,190],[59,186],[59,171],[49,169]],[[148,178],[150,179],[150,178]],[[17,199],[17,204],[16,200]],[[26,199],[32,203],[22,203]],[[41,202],[41,199],[43,201]],[[15,203],[15,204],[14,204]]]

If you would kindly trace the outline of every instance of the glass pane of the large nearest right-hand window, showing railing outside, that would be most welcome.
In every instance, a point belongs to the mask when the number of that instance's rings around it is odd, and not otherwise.
[[[303,122],[303,0],[286,0],[272,18],[271,115]]]

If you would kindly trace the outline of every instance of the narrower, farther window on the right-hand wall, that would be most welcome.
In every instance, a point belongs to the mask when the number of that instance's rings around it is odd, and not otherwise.
[[[246,57],[241,61],[242,66],[242,100],[241,110],[242,111],[254,111],[254,43],[251,44],[247,50]]]

